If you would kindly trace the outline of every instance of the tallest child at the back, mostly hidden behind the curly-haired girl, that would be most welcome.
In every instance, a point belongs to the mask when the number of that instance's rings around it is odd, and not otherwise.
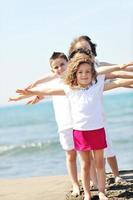
[[[89,49],[92,51],[93,53],[93,59],[95,61],[95,67],[97,70],[97,67],[100,66],[100,63],[98,63],[98,61],[96,61],[95,57],[97,56],[97,52],[96,52],[96,44],[94,44],[91,39],[88,36],[80,36],[77,37],[76,39],[73,40],[73,42],[70,45],[69,48],[69,57],[73,57],[74,54],[76,53],[77,49],[80,48],[85,48],[85,49]],[[107,63],[104,63],[104,65],[108,65]],[[110,65],[110,64],[109,64]],[[102,65],[103,66],[103,65]],[[113,71],[110,73],[106,73],[106,79],[114,79],[114,78],[133,78],[133,67],[127,67],[127,68],[123,68],[123,70],[121,71]],[[133,85],[128,85],[125,86],[127,88],[133,88]],[[122,179],[119,175],[119,170],[118,170],[118,164],[117,164],[117,158],[116,155],[113,151],[113,146],[112,146],[112,141],[109,137],[109,135],[107,136],[107,143],[108,143],[108,147],[105,150],[105,155],[107,158],[107,161],[111,167],[111,170],[115,176],[115,182],[121,182],[124,181],[124,179]]]

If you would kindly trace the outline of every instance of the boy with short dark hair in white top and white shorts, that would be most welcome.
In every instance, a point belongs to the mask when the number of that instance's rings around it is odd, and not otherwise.
[[[67,67],[67,56],[61,52],[54,52],[50,57],[50,66],[52,74],[43,77],[30,84],[26,89],[33,88],[39,84],[50,81],[50,84],[54,87],[62,85],[62,75]],[[10,101],[18,101],[24,98],[29,98],[33,95],[23,96],[20,95],[16,98],[10,98]],[[44,97],[37,95],[33,100],[30,100],[28,104],[37,103]],[[77,164],[76,164],[76,151],[74,150],[73,138],[72,138],[72,119],[69,109],[69,101],[66,96],[53,96],[53,106],[55,112],[55,119],[58,126],[58,133],[61,146],[65,150],[66,154],[66,165],[68,174],[72,183],[72,195],[79,195],[79,183],[77,176]]]

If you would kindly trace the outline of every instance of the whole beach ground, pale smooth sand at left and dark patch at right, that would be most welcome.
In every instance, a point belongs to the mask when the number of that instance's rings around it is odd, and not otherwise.
[[[133,200],[133,170],[121,171],[127,182],[115,184],[111,173],[107,174],[107,195],[113,200]],[[1,179],[0,200],[81,200],[81,196],[71,196],[68,176],[32,177],[25,179]],[[98,199],[97,191],[92,190]]]

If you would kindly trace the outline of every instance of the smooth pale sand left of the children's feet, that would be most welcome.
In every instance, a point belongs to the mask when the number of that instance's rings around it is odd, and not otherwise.
[[[0,180],[1,200],[64,200],[71,184],[68,176]],[[60,198],[63,197],[63,198]]]

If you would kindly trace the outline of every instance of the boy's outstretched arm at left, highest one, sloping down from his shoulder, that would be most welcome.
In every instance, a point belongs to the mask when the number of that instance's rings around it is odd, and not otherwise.
[[[43,77],[43,78],[41,78],[41,79],[39,79],[39,80],[37,80],[37,81],[35,81],[35,82],[33,82],[32,84],[30,84],[28,87],[26,87],[25,89],[31,89],[31,88],[34,88],[34,87],[36,87],[37,85],[39,85],[39,84],[42,84],[42,83],[47,83],[47,82],[49,82],[49,81],[51,81],[51,80],[53,80],[53,79],[55,79],[55,78],[57,78],[58,77],[58,75],[57,74],[48,74],[47,76],[45,76],[45,77]]]

